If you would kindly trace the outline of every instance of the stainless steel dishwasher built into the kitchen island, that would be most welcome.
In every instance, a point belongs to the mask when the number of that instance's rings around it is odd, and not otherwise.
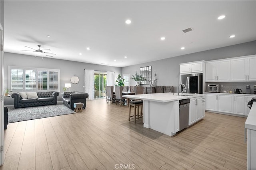
[[[180,130],[188,127],[190,99],[180,100]]]

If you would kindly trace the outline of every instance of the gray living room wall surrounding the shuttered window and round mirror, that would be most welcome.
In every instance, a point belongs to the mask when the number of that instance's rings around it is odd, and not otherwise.
[[[48,68],[48,69],[60,69],[60,92],[65,83],[71,83],[70,78],[73,75],[79,77],[79,83],[71,84],[70,91],[84,91],[84,69],[100,70],[100,71],[113,71],[116,74],[121,73],[120,67],[111,67],[106,65],[96,65],[90,63],[82,63],[76,61],[67,61],[61,59],[52,59],[42,57],[34,57],[30,55],[21,55],[16,53],[4,53],[4,89],[8,88],[8,65],[20,66],[20,67],[36,67],[36,68]],[[4,105],[13,105],[14,99],[9,97],[4,101]],[[58,101],[61,100],[61,95],[58,97]]]

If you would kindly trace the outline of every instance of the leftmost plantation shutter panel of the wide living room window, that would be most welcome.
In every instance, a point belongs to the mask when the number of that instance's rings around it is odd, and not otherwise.
[[[23,69],[11,69],[11,90],[23,90]]]

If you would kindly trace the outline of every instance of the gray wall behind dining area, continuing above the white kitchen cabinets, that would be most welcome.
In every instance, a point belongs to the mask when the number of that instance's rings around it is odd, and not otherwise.
[[[122,74],[130,74],[131,77],[136,71],[138,71],[138,73],[140,72],[140,67],[151,65],[152,77],[154,76],[154,73],[156,73],[157,85],[174,86],[174,91],[177,91],[180,75],[180,63],[200,60],[209,61],[253,54],[256,54],[256,41],[122,67]],[[135,82],[131,80],[130,85],[135,85]]]

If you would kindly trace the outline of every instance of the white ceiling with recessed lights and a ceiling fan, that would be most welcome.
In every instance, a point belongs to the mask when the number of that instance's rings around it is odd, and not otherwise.
[[[4,38],[6,52],[42,45],[56,59],[124,67],[254,41],[256,1],[7,0]]]

